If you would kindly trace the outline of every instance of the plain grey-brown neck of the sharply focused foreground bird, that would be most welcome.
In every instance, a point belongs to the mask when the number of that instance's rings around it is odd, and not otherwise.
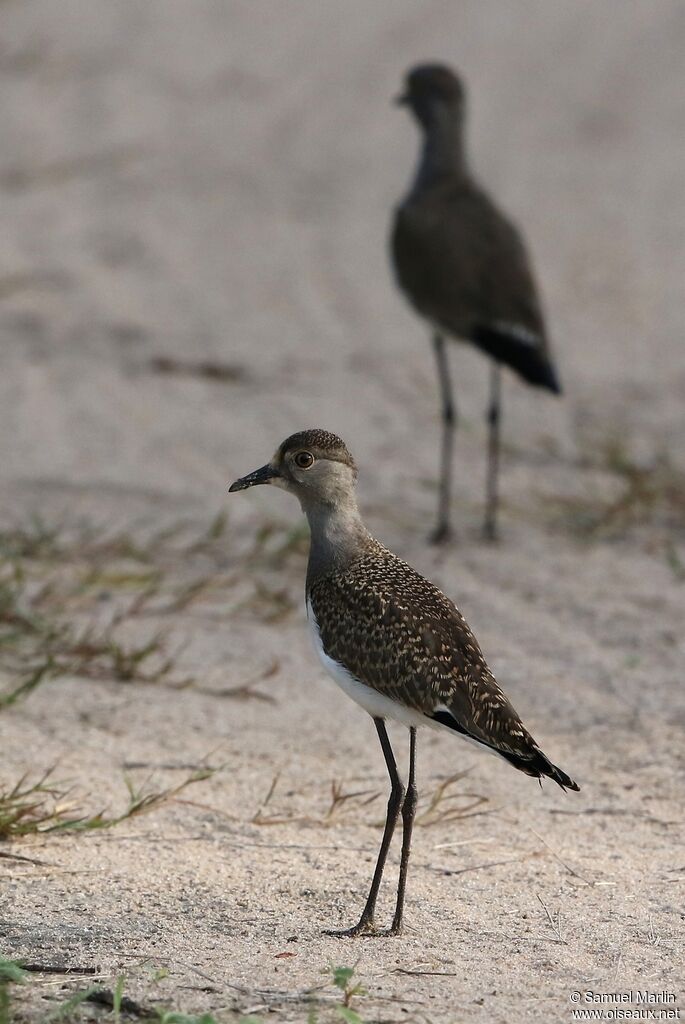
[[[373,544],[353,496],[330,505],[303,506],[311,542],[307,588],[318,578],[344,569]]]

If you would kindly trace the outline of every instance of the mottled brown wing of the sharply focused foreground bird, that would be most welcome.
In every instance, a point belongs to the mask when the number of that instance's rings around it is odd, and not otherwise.
[[[324,650],[385,696],[501,752],[532,739],[458,608],[389,553],[366,556],[309,592]]]

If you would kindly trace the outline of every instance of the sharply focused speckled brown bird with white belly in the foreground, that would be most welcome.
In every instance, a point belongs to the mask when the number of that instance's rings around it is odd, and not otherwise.
[[[314,647],[333,680],[373,718],[390,778],[366,905],[353,927],[326,932],[337,937],[398,935],[402,930],[420,726],[470,740],[533,778],[551,778],[563,790],[580,788],[525,729],[457,606],[369,532],[356,501],[356,479],[344,441],[312,429],[286,438],[266,465],[229,487],[236,492],[270,484],[299,499],[310,532],[305,596]],[[388,719],[410,731],[405,786],[388,738]],[[395,911],[384,931],[376,925],[376,900],[400,815]]]

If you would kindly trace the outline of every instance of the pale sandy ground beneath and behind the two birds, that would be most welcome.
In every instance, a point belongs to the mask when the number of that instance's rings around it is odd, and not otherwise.
[[[204,573],[214,590],[123,624],[163,628],[171,681],[194,687],[67,677],[0,712],[0,783],[58,763],[92,813],[125,806],[124,772],[168,786],[204,759],[223,769],[111,830],[0,846],[0,952],[123,974],[146,1005],[226,1020],[304,1021],[332,963],[356,965],[368,1021],[563,1022],[574,990],[678,993],[685,555],[667,492],[685,451],[685,6],[22,0],[0,25],[3,522],[144,538],[228,515],[209,554],[171,558],[169,586]],[[470,83],[473,162],[525,225],[566,386],[554,401],[508,382],[503,542],[487,547],[485,368],[454,350],[459,539],[439,553],[424,543],[433,367],[386,258],[417,142],[389,100],[426,57]],[[162,356],[236,379],[156,373]],[[541,792],[422,737],[421,790],[468,769],[442,805],[465,813],[417,829],[392,940],[320,934],[360,908],[384,768],[309,649],[302,547],[255,555],[265,523],[298,523],[295,503],[226,495],[314,425],[347,440],[374,530],[458,601],[582,785]],[[670,455],[671,483],[635,522],[579,539],[573,514],[626,486],[616,439],[638,468]],[[126,597],[100,596],[100,614]],[[271,700],[204,692],[254,680]],[[366,796],[329,813],[334,780]],[[38,976],[17,1020],[43,1020],[63,983]]]

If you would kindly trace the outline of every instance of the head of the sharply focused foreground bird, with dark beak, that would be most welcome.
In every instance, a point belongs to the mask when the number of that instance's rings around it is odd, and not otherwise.
[[[328,430],[301,430],[279,445],[270,462],[231,483],[244,490],[272,483],[299,499],[302,508],[354,503],[356,466],[345,442]]]

